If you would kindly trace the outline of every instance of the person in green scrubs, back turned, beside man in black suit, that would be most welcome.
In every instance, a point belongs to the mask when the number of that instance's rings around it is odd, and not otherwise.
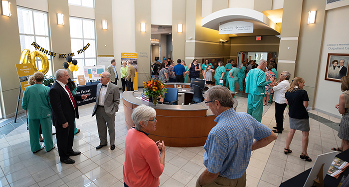
[[[42,85],[44,74],[34,73],[35,84],[25,88],[22,108],[26,111],[29,122],[30,149],[33,153],[42,150],[51,151],[55,146],[52,141],[51,104],[48,98],[49,87]],[[39,144],[39,127],[41,124],[45,146]]]

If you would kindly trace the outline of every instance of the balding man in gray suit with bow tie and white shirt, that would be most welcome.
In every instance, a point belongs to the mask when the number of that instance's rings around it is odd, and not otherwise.
[[[98,136],[100,140],[96,149],[108,145],[107,127],[110,137],[110,149],[115,149],[115,112],[119,110],[120,93],[119,87],[110,84],[110,73],[101,74],[101,83],[97,85],[97,100],[93,108],[92,116],[96,115]]]

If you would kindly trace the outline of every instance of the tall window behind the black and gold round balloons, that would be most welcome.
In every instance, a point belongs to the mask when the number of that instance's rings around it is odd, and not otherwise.
[[[82,66],[97,65],[95,20],[69,17],[69,22],[71,51],[74,52],[73,59],[78,61],[77,65],[79,66],[79,70],[74,71],[75,77],[84,74]],[[90,46],[84,52],[78,54],[77,50],[83,48],[87,43],[90,43]]]

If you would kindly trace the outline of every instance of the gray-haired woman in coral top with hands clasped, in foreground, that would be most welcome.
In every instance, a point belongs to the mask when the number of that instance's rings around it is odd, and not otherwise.
[[[133,110],[131,117],[135,127],[129,129],[125,140],[125,187],[160,185],[159,177],[165,167],[165,144],[164,141],[154,142],[148,137],[156,129],[156,114],[154,108],[146,105]]]

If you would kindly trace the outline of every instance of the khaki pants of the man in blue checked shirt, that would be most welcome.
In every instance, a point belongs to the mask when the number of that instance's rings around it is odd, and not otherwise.
[[[198,179],[196,187],[201,187]],[[246,172],[239,179],[228,179],[218,176],[217,179],[202,187],[246,187]]]

